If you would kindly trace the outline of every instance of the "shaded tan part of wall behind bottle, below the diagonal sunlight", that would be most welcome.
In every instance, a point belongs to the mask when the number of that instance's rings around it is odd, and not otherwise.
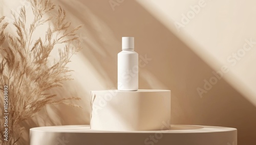
[[[256,143],[253,130],[256,108],[224,79],[201,98],[197,88],[202,88],[204,79],[213,76],[212,68],[137,2],[124,1],[114,11],[107,0],[72,3],[56,0],[56,4],[67,10],[70,21],[84,23],[79,31],[84,49],[75,57],[88,65],[74,70],[91,74],[84,74],[87,78],[82,79],[88,80],[82,83],[74,73],[74,81],[66,82],[64,90],[76,87],[71,93],[81,97],[86,107],[80,111],[61,105],[48,106],[24,123],[27,131],[36,126],[89,124],[90,90],[116,87],[116,57],[121,51],[121,37],[134,36],[135,51],[145,64],[140,67],[139,88],[172,90],[172,124],[233,127],[238,129],[239,144]],[[55,90],[61,97],[69,97],[66,91]]]

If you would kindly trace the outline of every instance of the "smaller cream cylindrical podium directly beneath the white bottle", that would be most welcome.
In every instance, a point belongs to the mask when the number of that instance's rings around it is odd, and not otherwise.
[[[170,126],[170,90],[91,91],[91,129],[166,130]]]

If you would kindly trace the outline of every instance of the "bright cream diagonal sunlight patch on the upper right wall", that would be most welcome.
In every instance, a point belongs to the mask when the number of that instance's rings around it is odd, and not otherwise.
[[[247,40],[256,41],[256,21],[250,18],[256,14],[255,2],[137,2],[216,71],[227,66],[229,71],[223,78],[256,106],[256,69],[253,67],[256,46],[253,45],[250,51],[242,51]],[[235,66],[234,61],[237,62]],[[205,79],[209,81],[210,78]]]

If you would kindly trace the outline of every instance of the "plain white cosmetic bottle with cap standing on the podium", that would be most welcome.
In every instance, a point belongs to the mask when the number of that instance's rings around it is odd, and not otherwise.
[[[134,37],[122,37],[122,51],[117,55],[118,90],[138,90],[138,59],[138,53],[134,51]]]

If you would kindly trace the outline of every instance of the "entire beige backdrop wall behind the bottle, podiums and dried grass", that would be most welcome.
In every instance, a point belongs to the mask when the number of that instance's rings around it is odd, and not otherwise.
[[[256,143],[256,46],[236,65],[227,61],[243,49],[247,39],[256,41],[255,1],[55,2],[67,10],[75,25],[84,25],[78,33],[84,49],[70,63],[74,80],[53,91],[60,98],[81,97],[78,104],[84,109],[47,106],[24,123],[27,132],[20,144],[27,144],[32,127],[90,123],[90,90],[116,87],[122,36],[135,37],[135,50],[144,64],[139,88],[172,90],[172,124],[233,127],[238,129],[239,144]],[[1,15],[26,5],[25,0],[1,0],[0,4]],[[193,15],[192,8],[199,4],[203,7]],[[181,23],[187,13],[190,19],[178,31],[175,23]],[[229,71],[200,96],[197,89],[223,65]]]

